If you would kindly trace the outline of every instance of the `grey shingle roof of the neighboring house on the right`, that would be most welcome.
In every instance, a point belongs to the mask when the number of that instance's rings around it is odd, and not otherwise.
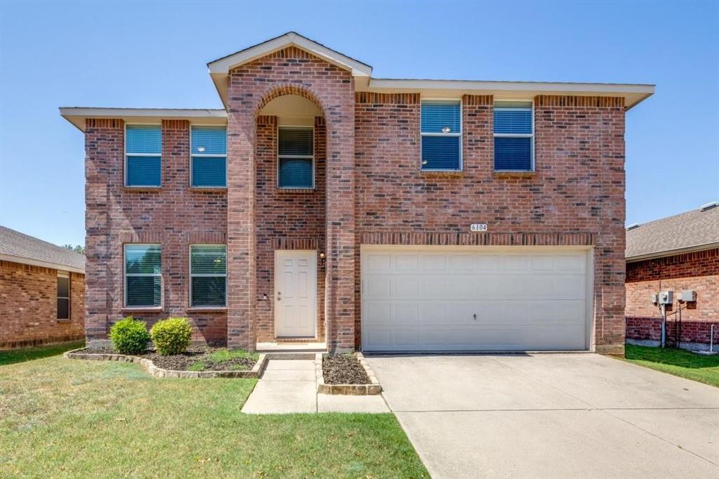
[[[719,204],[714,202],[668,218],[632,224],[627,228],[626,241],[628,261],[719,247]]]

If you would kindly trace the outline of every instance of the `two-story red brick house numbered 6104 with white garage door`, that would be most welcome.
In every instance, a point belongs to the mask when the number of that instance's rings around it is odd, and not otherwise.
[[[653,86],[377,79],[296,33],[209,71],[225,109],[60,109],[88,339],[181,314],[259,350],[623,352],[625,112]]]

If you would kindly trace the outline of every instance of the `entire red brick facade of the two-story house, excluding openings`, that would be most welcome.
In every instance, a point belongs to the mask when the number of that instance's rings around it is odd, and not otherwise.
[[[324,113],[324,192],[270,188],[274,119],[257,115],[283,94]],[[177,120],[163,122],[162,188],[124,188],[122,121],[88,120],[89,337],[106,337],[109,323],[128,314],[122,242],[162,243],[165,310],[136,316],[188,315],[196,337],[249,348],[271,339],[272,301],[261,299],[273,292],[271,252],[316,244],[327,255],[327,342],[340,350],[358,345],[361,334],[359,245],[586,245],[595,250],[596,350],[621,352],[622,99],[538,96],[536,173],[512,175],[493,172],[491,96],[464,97],[464,170],[449,174],[420,171],[418,94],[355,94],[349,72],[295,47],[232,70],[228,98],[226,191],[188,188],[188,124]],[[490,232],[471,234],[472,222]],[[191,242],[228,245],[226,314],[187,309]]]

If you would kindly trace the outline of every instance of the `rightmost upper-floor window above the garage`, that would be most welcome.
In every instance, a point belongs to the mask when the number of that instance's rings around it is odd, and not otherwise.
[[[534,169],[532,117],[531,101],[495,102],[495,171]]]

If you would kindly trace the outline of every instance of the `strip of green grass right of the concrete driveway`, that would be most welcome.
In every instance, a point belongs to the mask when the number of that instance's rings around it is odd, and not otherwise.
[[[719,356],[700,356],[684,350],[626,345],[625,359],[646,368],[719,388]]]

